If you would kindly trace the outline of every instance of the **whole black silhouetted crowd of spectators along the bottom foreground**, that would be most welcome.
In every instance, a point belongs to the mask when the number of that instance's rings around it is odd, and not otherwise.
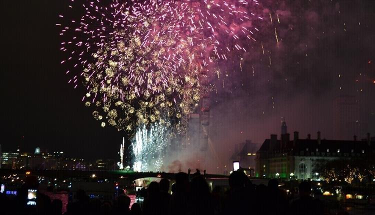
[[[152,181],[144,189],[141,204],[133,203],[130,198],[119,195],[114,201],[89,199],[83,190],[76,193],[76,201],[69,202],[64,215],[221,215],[221,214],[328,214],[323,203],[311,197],[311,185],[308,181],[299,184],[299,195],[293,198],[279,189],[278,181],[270,179],[267,185],[253,185],[243,171],[233,171],[228,178],[229,188],[212,187],[212,191],[199,172],[189,175],[176,173],[175,183],[161,179]],[[168,192],[171,188],[171,194]],[[19,193],[22,192],[22,188]],[[19,194],[20,195],[20,194]],[[62,215],[62,203],[58,199],[38,194],[35,207],[25,206],[25,200],[16,197],[8,199],[0,196],[1,214],[48,214]],[[7,211],[7,212],[6,212]],[[346,214],[346,213],[340,213]]]

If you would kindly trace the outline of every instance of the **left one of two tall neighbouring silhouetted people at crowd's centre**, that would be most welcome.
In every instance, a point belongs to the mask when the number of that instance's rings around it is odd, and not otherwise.
[[[169,215],[187,214],[189,180],[185,172],[176,174],[175,190],[170,196]]]

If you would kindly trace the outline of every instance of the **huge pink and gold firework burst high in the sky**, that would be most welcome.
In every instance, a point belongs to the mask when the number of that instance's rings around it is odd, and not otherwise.
[[[101,126],[130,133],[192,111],[216,64],[245,52],[262,19],[256,0],[96,0],[78,7],[80,18],[57,24],[67,53],[61,63],[74,87],[83,82],[82,100]]]

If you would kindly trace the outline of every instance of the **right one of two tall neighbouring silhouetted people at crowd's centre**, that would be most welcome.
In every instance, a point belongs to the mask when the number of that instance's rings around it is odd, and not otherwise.
[[[191,215],[213,214],[211,194],[205,179],[196,175],[191,179],[188,211]]]

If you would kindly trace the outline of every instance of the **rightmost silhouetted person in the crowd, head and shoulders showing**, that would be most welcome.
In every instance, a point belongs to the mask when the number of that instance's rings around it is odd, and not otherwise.
[[[293,215],[320,215],[323,214],[323,205],[318,199],[311,197],[311,185],[307,181],[299,184],[299,198],[291,203],[290,214]]]

